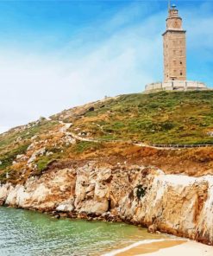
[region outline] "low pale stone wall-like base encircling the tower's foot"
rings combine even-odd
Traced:
[[[147,86],[145,86],[144,93],[158,93],[162,91],[185,92],[206,90],[209,90],[209,88],[203,82],[187,80],[170,80],[167,82],[147,84]]]

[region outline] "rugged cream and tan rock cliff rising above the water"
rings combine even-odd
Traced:
[[[137,165],[90,162],[3,184],[0,202],[79,218],[122,220],[213,245],[213,176],[165,175]]]

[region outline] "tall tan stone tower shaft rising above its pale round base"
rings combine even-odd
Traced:
[[[185,30],[175,5],[169,7],[164,39],[164,81],[186,80]]]

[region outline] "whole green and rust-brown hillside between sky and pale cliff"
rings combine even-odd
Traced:
[[[155,165],[191,176],[213,174],[212,148],[154,150],[133,144],[213,144],[211,131],[212,91],[103,99],[1,134],[0,181],[25,182],[51,166],[86,159]]]

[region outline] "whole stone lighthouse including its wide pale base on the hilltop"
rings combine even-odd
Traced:
[[[186,30],[176,5],[169,4],[163,34],[164,81],[148,84],[145,93],[208,90],[203,82],[186,80]]]

